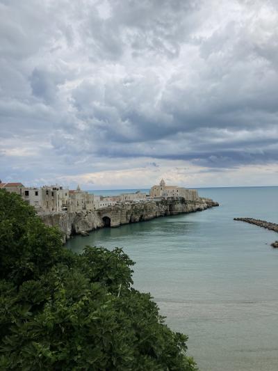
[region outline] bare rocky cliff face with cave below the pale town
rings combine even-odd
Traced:
[[[128,223],[148,221],[160,216],[206,210],[219,204],[210,198],[147,200],[140,203],[119,203],[95,211],[44,212],[38,215],[47,226],[57,226],[65,241],[72,235],[86,235],[104,227],[119,227]]]

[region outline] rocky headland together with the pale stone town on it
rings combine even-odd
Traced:
[[[56,226],[64,242],[72,235],[87,235],[104,227],[148,221],[159,216],[197,212],[218,206],[210,198],[199,197],[197,190],[167,186],[164,180],[149,194],[137,191],[118,196],[96,196],[80,187],[24,187],[22,183],[0,182],[0,189],[15,192],[35,208],[47,226]]]

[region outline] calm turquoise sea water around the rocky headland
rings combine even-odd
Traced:
[[[277,371],[278,249],[270,244],[278,235],[233,219],[278,223],[278,187],[199,194],[220,207],[97,230],[67,246],[123,247],[136,261],[134,286],[151,292],[167,324],[189,336],[201,371]]]

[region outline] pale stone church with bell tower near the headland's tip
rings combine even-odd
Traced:
[[[183,197],[186,200],[197,200],[199,198],[196,189],[167,186],[163,179],[161,179],[159,185],[154,185],[150,189],[149,196],[153,198]]]

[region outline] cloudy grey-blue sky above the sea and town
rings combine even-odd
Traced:
[[[278,183],[277,0],[0,0],[0,179]]]

